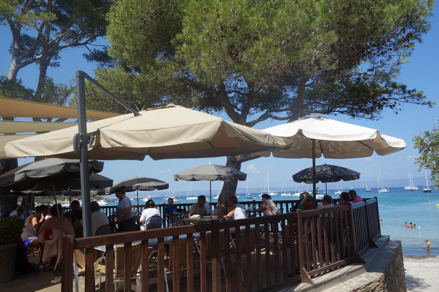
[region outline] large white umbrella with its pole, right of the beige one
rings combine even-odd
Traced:
[[[404,149],[404,140],[381,134],[377,129],[361,127],[328,119],[320,115],[308,115],[296,121],[263,129],[275,136],[294,140],[287,149],[272,151],[274,157],[312,158],[313,194],[316,190],[316,158],[358,158],[387,155]],[[256,153],[269,156],[269,152]],[[315,201],[315,200],[314,200]]]

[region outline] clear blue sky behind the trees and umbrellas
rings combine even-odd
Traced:
[[[436,7],[435,11],[438,11]],[[404,139],[407,143],[407,148],[397,153],[378,156],[374,154],[367,158],[357,159],[317,159],[319,164],[336,164],[344,167],[354,169],[358,172],[367,172],[368,184],[370,187],[377,186],[379,167],[381,167],[381,177],[385,186],[402,185],[408,183],[407,173],[413,172],[415,183],[423,185],[425,182],[423,172],[417,172],[418,167],[414,164],[414,158],[418,151],[413,148],[412,138],[425,129],[433,128],[433,125],[438,125],[439,118],[439,16],[435,15],[431,19],[432,28],[427,35],[423,37],[423,42],[417,44],[413,55],[410,56],[409,62],[404,64],[399,75],[399,82],[407,84],[409,88],[416,88],[423,91],[427,99],[438,103],[432,109],[423,106],[405,105],[399,114],[394,114],[391,110],[386,110],[382,113],[382,119],[379,121],[371,121],[364,119],[353,120],[346,116],[332,117],[339,121],[353,123],[356,125],[376,128],[380,132]],[[11,40],[11,33],[6,26],[0,26],[0,36],[3,41],[0,43],[0,75],[6,75],[10,64],[10,54],[8,53],[9,43]],[[102,40],[103,41],[103,40]],[[60,67],[50,68],[48,76],[55,79],[55,82],[67,83],[74,78],[76,70],[82,70],[90,75],[96,65],[88,63],[82,54],[86,52],[84,49],[69,49],[63,51],[61,55]],[[20,70],[19,78],[22,79],[23,84],[27,87],[35,88],[37,85],[38,71],[36,66],[27,66]],[[219,116],[226,120],[230,120],[224,113],[219,113]],[[265,121],[256,125],[255,128],[263,129],[271,126],[281,124],[279,121]],[[19,163],[31,162],[33,159],[20,159]],[[184,191],[188,189],[187,182],[174,182],[173,175],[181,170],[190,168],[200,164],[207,163],[225,164],[226,158],[210,158],[210,159],[179,159],[179,160],[162,160],[153,161],[150,158],[145,158],[144,161],[108,161],[105,163],[105,168],[102,175],[112,178],[115,182],[129,178],[135,175],[155,177],[157,179],[169,182],[171,187],[176,191]],[[248,183],[250,188],[257,188],[259,182],[262,187],[265,184],[267,174],[270,174],[270,186],[272,188],[285,187],[293,190],[296,188],[296,183],[293,182],[291,175],[299,170],[310,167],[310,159],[281,159],[281,158],[259,158],[242,164],[241,170],[248,174]],[[397,181],[399,180],[399,181]],[[245,188],[246,182],[240,182],[238,187]],[[216,183],[213,184],[216,187]],[[346,182],[343,186],[361,187],[364,185],[364,176],[356,182]],[[323,187],[323,185],[319,185]],[[335,188],[335,183],[328,184],[329,188]],[[193,189],[206,190],[207,183],[193,183]],[[303,189],[304,185],[299,186]],[[311,189],[311,186],[308,186]],[[165,192],[165,191],[162,191]]]

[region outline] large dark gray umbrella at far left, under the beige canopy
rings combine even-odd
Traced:
[[[102,171],[103,162],[90,160],[90,173]],[[47,158],[28,164],[23,164],[0,176],[0,186],[12,191],[26,191],[32,189],[43,178],[53,179],[54,182],[63,177],[80,177],[80,161],[77,159]],[[65,187],[64,189],[67,189]]]

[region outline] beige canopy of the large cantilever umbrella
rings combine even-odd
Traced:
[[[201,158],[238,155],[292,146],[294,141],[241,126],[197,110],[169,105],[87,123],[95,136],[89,159],[143,160],[151,158]],[[71,127],[11,141],[10,157],[78,158]]]

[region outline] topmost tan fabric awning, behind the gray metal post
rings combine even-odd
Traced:
[[[87,110],[87,119],[100,120],[120,115],[119,113]],[[34,101],[0,97],[0,117],[65,118],[77,119],[75,108],[50,105]]]

